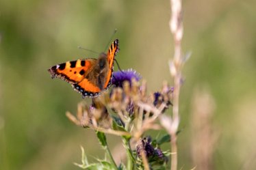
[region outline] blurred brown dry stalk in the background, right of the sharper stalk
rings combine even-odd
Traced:
[[[215,103],[209,91],[196,89],[192,100],[192,160],[196,169],[212,170],[214,144],[218,139],[212,124]]]

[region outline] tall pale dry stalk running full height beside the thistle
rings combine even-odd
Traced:
[[[181,68],[183,65],[181,40],[183,37],[183,23],[181,14],[181,0],[170,0],[170,31],[172,32],[175,51],[172,60],[171,74],[174,79],[173,91],[173,107],[172,107],[172,128],[170,129],[171,136],[171,170],[177,170],[178,167],[178,153],[177,153],[177,129],[179,126],[179,92],[181,87]]]

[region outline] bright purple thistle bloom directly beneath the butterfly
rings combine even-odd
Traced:
[[[116,87],[123,87],[124,81],[129,81],[131,85],[131,80],[135,79],[136,81],[140,81],[141,77],[136,70],[128,69],[123,71],[113,72],[113,77],[111,80],[112,85]]]

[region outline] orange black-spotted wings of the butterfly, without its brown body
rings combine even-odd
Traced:
[[[103,86],[104,90],[111,85],[114,57],[118,50],[118,40],[116,39],[107,51],[108,71]],[[67,61],[66,63],[58,64],[51,67],[48,71],[51,73],[52,78],[60,78],[71,83],[75,91],[78,91],[83,98],[86,96],[95,97],[100,94],[101,89],[97,86],[97,83],[93,83],[93,81],[97,80],[90,80],[87,78],[87,75],[94,72],[97,64],[97,59],[78,59],[77,61]]]

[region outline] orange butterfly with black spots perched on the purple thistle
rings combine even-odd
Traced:
[[[110,45],[107,54],[101,53],[98,59],[77,59],[52,66],[48,69],[51,78],[62,79],[72,85],[82,98],[94,98],[111,85],[114,57],[118,53],[119,40]]]

